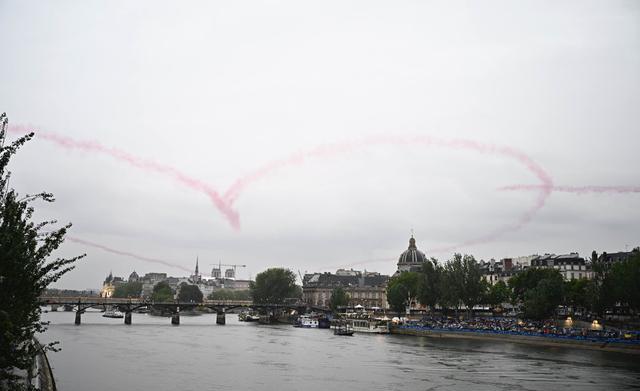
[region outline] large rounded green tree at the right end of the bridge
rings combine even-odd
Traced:
[[[298,298],[300,288],[296,275],[289,269],[271,268],[258,273],[249,283],[251,297],[256,304],[283,304],[285,299]]]

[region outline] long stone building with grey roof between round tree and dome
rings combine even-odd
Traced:
[[[333,289],[341,287],[349,295],[349,306],[388,308],[387,282],[389,276],[357,270],[338,270],[332,273],[305,274],[302,294],[305,303],[328,307]]]

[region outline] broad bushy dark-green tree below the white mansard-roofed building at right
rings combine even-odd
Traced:
[[[527,269],[511,277],[509,286],[527,318],[549,317],[562,302],[564,281],[556,269]]]

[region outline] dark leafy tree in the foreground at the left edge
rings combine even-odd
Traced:
[[[34,222],[35,201],[53,202],[40,193],[20,197],[10,189],[7,170],[11,157],[33,133],[5,145],[8,120],[0,115],[0,388],[20,389],[15,369],[29,371],[37,347],[34,336],[46,330],[40,322],[38,297],[46,287],[74,268],[84,255],[49,260],[64,242],[71,224],[56,228],[56,221]],[[45,346],[55,350],[55,343]]]

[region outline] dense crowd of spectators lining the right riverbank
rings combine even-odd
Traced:
[[[491,332],[500,334],[640,342],[640,333],[637,332],[618,329],[602,329],[601,327],[576,328],[566,324],[568,322],[564,323],[564,325],[559,326],[558,323],[552,320],[522,321],[516,318],[506,317],[476,317],[471,319],[459,319],[444,316],[425,316],[420,320],[406,321],[401,327],[427,330]]]

